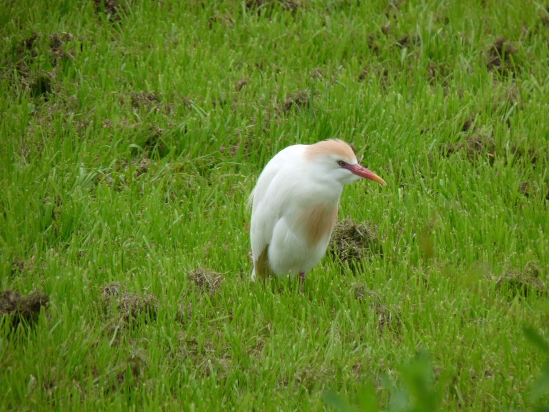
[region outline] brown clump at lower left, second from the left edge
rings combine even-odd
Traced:
[[[156,317],[156,309],[158,303],[154,295],[136,295],[128,293],[124,290],[120,282],[115,282],[104,286],[101,290],[102,304],[105,310],[109,311],[112,307],[112,302],[115,301],[117,308],[117,320],[134,321],[139,317],[139,314],[144,313],[150,319]]]

